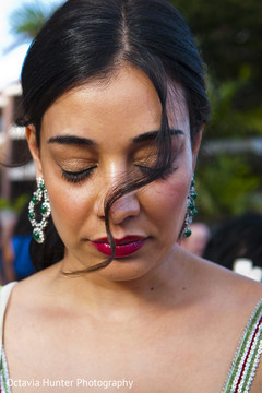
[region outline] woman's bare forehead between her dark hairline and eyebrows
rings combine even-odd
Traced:
[[[159,129],[162,110],[150,79],[127,66],[106,80],[88,82],[62,95],[45,112],[43,130],[47,138],[69,132],[105,138],[109,131],[111,136],[134,138]],[[167,112],[170,127],[189,129],[187,106],[178,86],[168,88]]]

